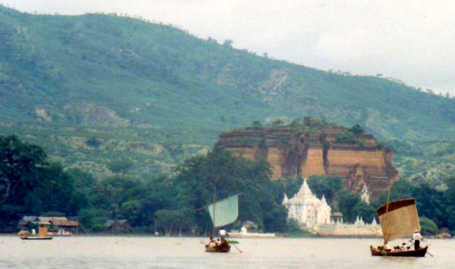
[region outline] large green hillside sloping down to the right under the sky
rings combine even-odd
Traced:
[[[406,143],[438,144],[455,133],[454,99],[259,57],[139,19],[0,6],[0,40],[0,132],[98,174],[125,158],[131,173],[168,171],[219,133],[274,117],[358,123],[413,160],[422,158],[407,154]],[[430,162],[453,168],[450,147]]]

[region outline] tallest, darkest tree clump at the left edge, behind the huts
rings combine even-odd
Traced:
[[[0,136],[0,229],[12,231],[24,215],[58,211],[75,215],[86,205],[74,178],[47,161],[42,148],[17,136]]]

